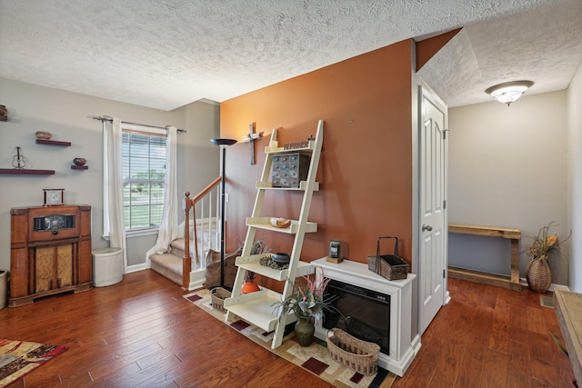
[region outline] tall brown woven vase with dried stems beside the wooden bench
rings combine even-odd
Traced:
[[[547,260],[550,254],[559,246],[557,234],[549,233],[550,228],[553,226],[557,226],[556,221],[545,224],[539,229],[533,243],[527,249],[527,254],[529,255],[529,264],[527,264],[526,271],[527,285],[537,293],[547,292],[550,284],[552,284],[552,271]],[[569,237],[570,235],[568,234],[562,240],[562,243],[566,242]]]

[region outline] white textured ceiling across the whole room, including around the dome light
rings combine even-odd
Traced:
[[[449,106],[582,62],[581,0],[0,0],[0,77],[171,110],[461,26],[419,72]]]

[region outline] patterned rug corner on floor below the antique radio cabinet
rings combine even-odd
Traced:
[[[15,382],[66,349],[66,346],[0,339],[0,387]]]

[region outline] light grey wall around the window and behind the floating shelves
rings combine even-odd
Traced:
[[[219,134],[219,107],[193,103],[171,112],[0,78],[0,104],[8,122],[0,122],[0,168],[11,168],[16,146],[26,168],[55,170],[54,175],[0,174],[0,268],[10,268],[10,209],[43,204],[43,189],[64,188],[65,204],[92,206],[93,249],[108,246],[103,232],[102,125],[87,115],[111,115],[127,122],[186,129],[178,136],[178,193],[196,194],[219,174],[219,150],[209,142]],[[35,132],[71,146],[35,144]],[[88,170],[71,170],[73,158],[87,159]],[[180,206],[181,209],[181,206]],[[182,212],[180,219],[184,219]],[[130,265],[145,263],[156,235],[128,239]]]

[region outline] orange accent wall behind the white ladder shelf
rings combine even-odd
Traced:
[[[278,128],[281,146],[306,140],[317,120],[325,121],[320,191],[309,215],[318,232],[306,234],[302,260],[326,256],[334,239],[348,244],[350,260],[366,263],[377,237],[389,234],[401,239],[400,254],[412,263],[413,48],[412,40],[402,41],[221,104],[221,136],[238,141],[252,122],[257,132]],[[266,135],[256,142],[255,165],[247,143],[226,151],[231,250],[245,240],[268,141]],[[301,199],[302,193],[269,191],[262,215],[296,219]],[[258,231],[256,238],[274,252],[290,252],[293,244],[286,234]]]

